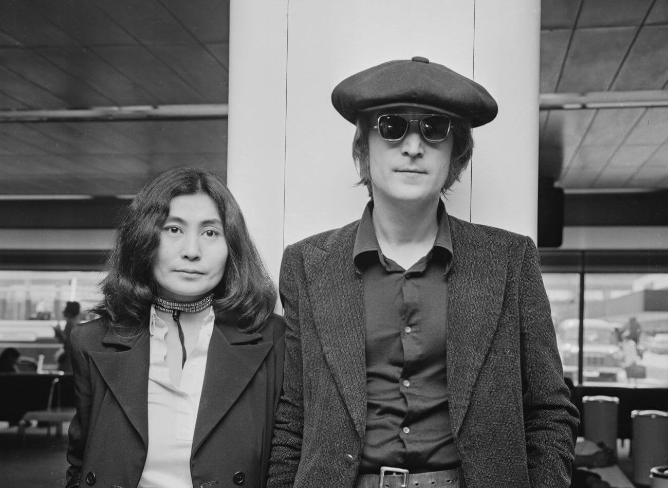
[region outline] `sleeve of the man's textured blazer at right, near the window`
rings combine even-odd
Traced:
[[[524,431],[530,485],[570,486],[578,410],[570,402],[556,347],[538,250],[526,237],[519,284]]]

